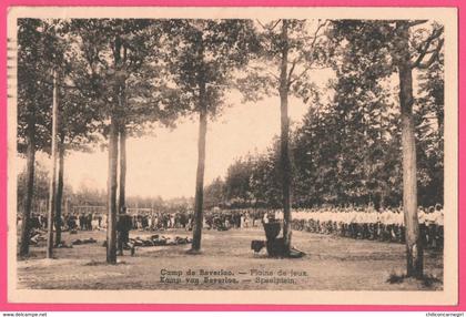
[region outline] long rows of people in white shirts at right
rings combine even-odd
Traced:
[[[428,208],[419,207],[418,222],[424,246],[443,248],[443,207],[438,204]],[[379,211],[373,207],[296,209],[293,212],[293,228],[355,239],[405,242],[404,214],[401,207]]]

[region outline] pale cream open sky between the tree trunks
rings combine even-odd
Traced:
[[[207,123],[204,184],[225,176],[240,156],[263,153],[280,134],[280,99],[271,96],[259,102],[241,103],[240,95],[230,93],[230,108]],[[300,122],[310,105],[290,98],[288,114]],[[173,198],[194,196],[197,166],[199,120],[182,119],[175,129],[156,127],[154,136],[130,137],[126,141],[129,196]],[[23,160],[22,160],[23,161]],[[38,161],[50,166],[41,153]],[[22,162],[20,170],[23,168]],[[71,152],[65,157],[64,178],[74,191],[87,187],[107,190],[108,152]]]

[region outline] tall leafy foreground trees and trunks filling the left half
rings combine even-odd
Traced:
[[[65,150],[77,139],[75,144],[84,146],[99,136],[108,140],[108,262],[115,263],[116,212],[125,204],[126,136],[148,132],[154,123],[171,125],[186,113],[200,115],[195,213],[201,221],[193,243],[199,249],[207,115],[222,105],[232,70],[246,62],[243,52],[254,44],[251,31],[252,21],[245,20],[21,19],[18,150],[27,156],[28,182],[20,254],[28,254],[36,151],[52,157],[60,152],[58,173],[52,160],[50,187],[49,217],[57,221]],[[79,137],[69,136],[68,130],[79,130]],[[59,239],[57,233],[55,244]]]

